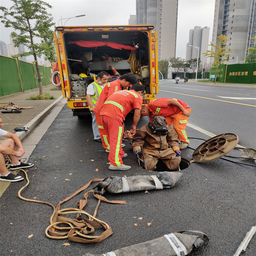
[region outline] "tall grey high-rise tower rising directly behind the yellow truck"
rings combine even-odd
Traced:
[[[136,0],[137,25],[158,31],[158,60],[175,57],[178,0]]]

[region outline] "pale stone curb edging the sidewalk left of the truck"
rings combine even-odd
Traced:
[[[28,127],[30,131],[17,131],[15,134],[19,137],[20,140],[23,140],[33,129],[39,124],[44,117],[63,99],[63,96],[60,96],[55,100],[51,105],[49,105],[44,111],[34,117],[30,122],[28,122],[24,127]]]

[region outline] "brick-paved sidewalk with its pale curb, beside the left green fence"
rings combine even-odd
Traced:
[[[20,107],[32,106],[33,109],[22,109],[22,113],[17,114],[3,114],[0,116],[3,120],[3,130],[16,133],[16,135],[22,140],[29,132],[16,132],[14,128],[29,126],[30,131],[37,125],[51,109],[58,104],[62,98],[62,91],[49,91],[54,85],[43,86],[43,92],[49,92],[49,94],[55,97],[54,100],[26,100],[32,95],[39,94],[39,88],[30,91],[25,91],[24,93],[17,93],[13,95],[3,96],[0,98],[0,106],[12,102]],[[0,110],[0,112],[3,110]],[[44,112],[41,116],[40,113]],[[37,117],[35,120],[33,120]],[[31,120],[33,120],[32,123]],[[0,141],[6,139],[1,137]]]

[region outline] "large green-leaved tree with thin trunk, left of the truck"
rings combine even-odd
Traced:
[[[47,8],[52,8],[51,5],[42,0],[11,0],[14,5],[7,9],[3,6],[0,10],[3,11],[3,15],[0,16],[1,22],[4,23],[6,28],[14,28],[17,32],[12,32],[13,42],[15,46],[24,44],[29,49],[28,52],[19,54],[19,56],[33,55],[35,66],[37,68],[38,82],[39,82],[39,94],[43,95],[42,81],[40,70],[38,66],[38,57],[42,54],[53,60],[54,48],[53,48],[53,34],[50,27],[55,23],[52,22],[52,14],[48,13]],[[41,43],[35,43],[41,39]]]

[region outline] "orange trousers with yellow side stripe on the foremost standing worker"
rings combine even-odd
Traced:
[[[122,137],[124,134],[124,122],[109,116],[100,116],[102,126],[110,139],[109,161],[114,166],[123,164]]]

